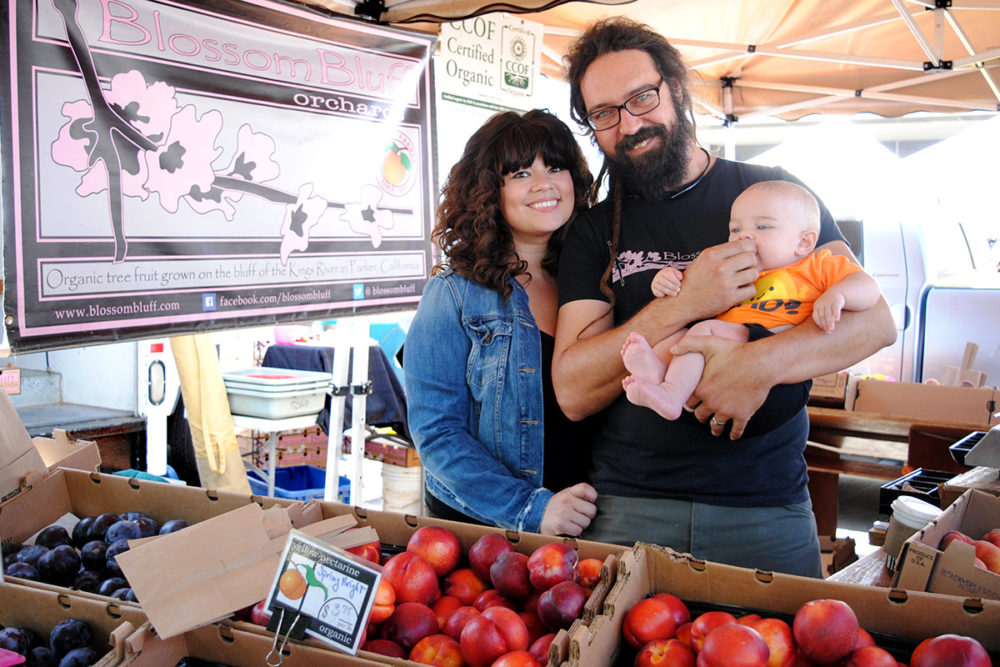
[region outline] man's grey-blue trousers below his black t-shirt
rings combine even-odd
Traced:
[[[822,577],[812,503],[724,507],[668,498],[601,495],[583,539],[658,544],[695,558]]]

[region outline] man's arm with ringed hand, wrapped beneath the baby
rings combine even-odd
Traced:
[[[853,257],[842,241],[823,247]],[[895,340],[896,327],[889,306],[880,297],[868,310],[843,313],[833,333],[823,332],[808,319],[751,343],[688,336],[671,352],[700,352],[705,356],[701,382],[688,406],[695,408],[695,416],[701,421],[712,416],[720,422],[732,419],[730,437],[736,439],[774,385],[843,370]]]

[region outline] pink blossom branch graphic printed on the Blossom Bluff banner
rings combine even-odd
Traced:
[[[115,74],[105,89],[76,20],[77,0],[53,0],[53,4],[62,14],[89,101],[63,105],[67,122],[52,142],[52,159],[82,173],[75,189],[81,197],[107,193],[113,261],[124,261],[128,253],[124,197],[146,200],[156,193],[160,206],[170,213],[178,212],[183,199],[196,213],[219,211],[229,221],[236,217],[235,203],[246,194],[281,205],[282,263],[292,252],[309,247],[311,230],[328,208],[346,208],[343,219],[375,247],[382,243],[382,229],[393,226],[395,213],[412,214],[379,208],[381,194],[374,186],[365,186],[360,203],[339,204],[313,195],[312,183],[300,186],[297,195],[265,185],[281,172],[273,159],[275,142],[247,124],[239,128],[228,164],[216,169],[214,163],[225,153],[217,145],[222,112],[212,109],[199,115],[193,105],[181,107],[173,86],[148,82],[137,70]]]

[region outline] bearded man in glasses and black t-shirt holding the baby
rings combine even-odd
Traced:
[[[595,24],[568,61],[571,111],[610,176],[608,198],[574,223],[559,262],[556,395],[571,419],[601,414],[591,470],[598,515],[583,537],[822,576],[804,459],[808,415],[790,385],[890,344],[888,307],[880,300],[846,313],[830,334],[809,321],[747,343],[689,337],[673,352],[705,356],[693,412],[671,422],[629,403],[621,384],[628,334],[655,345],[754,296],[753,243],[727,242],[731,205],[755,182],[795,179],[697,145],[684,64],[647,26]],[[825,208],[822,222],[818,246],[851,256]],[[665,266],[683,270],[680,293],[653,298],[652,278]],[[758,410],[792,412],[761,420],[782,425],[758,433]]]

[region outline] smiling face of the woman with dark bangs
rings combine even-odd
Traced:
[[[547,241],[573,215],[573,176],[569,169],[549,167],[540,155],[531,166],[504,174],[500,211],[515,243]]]

